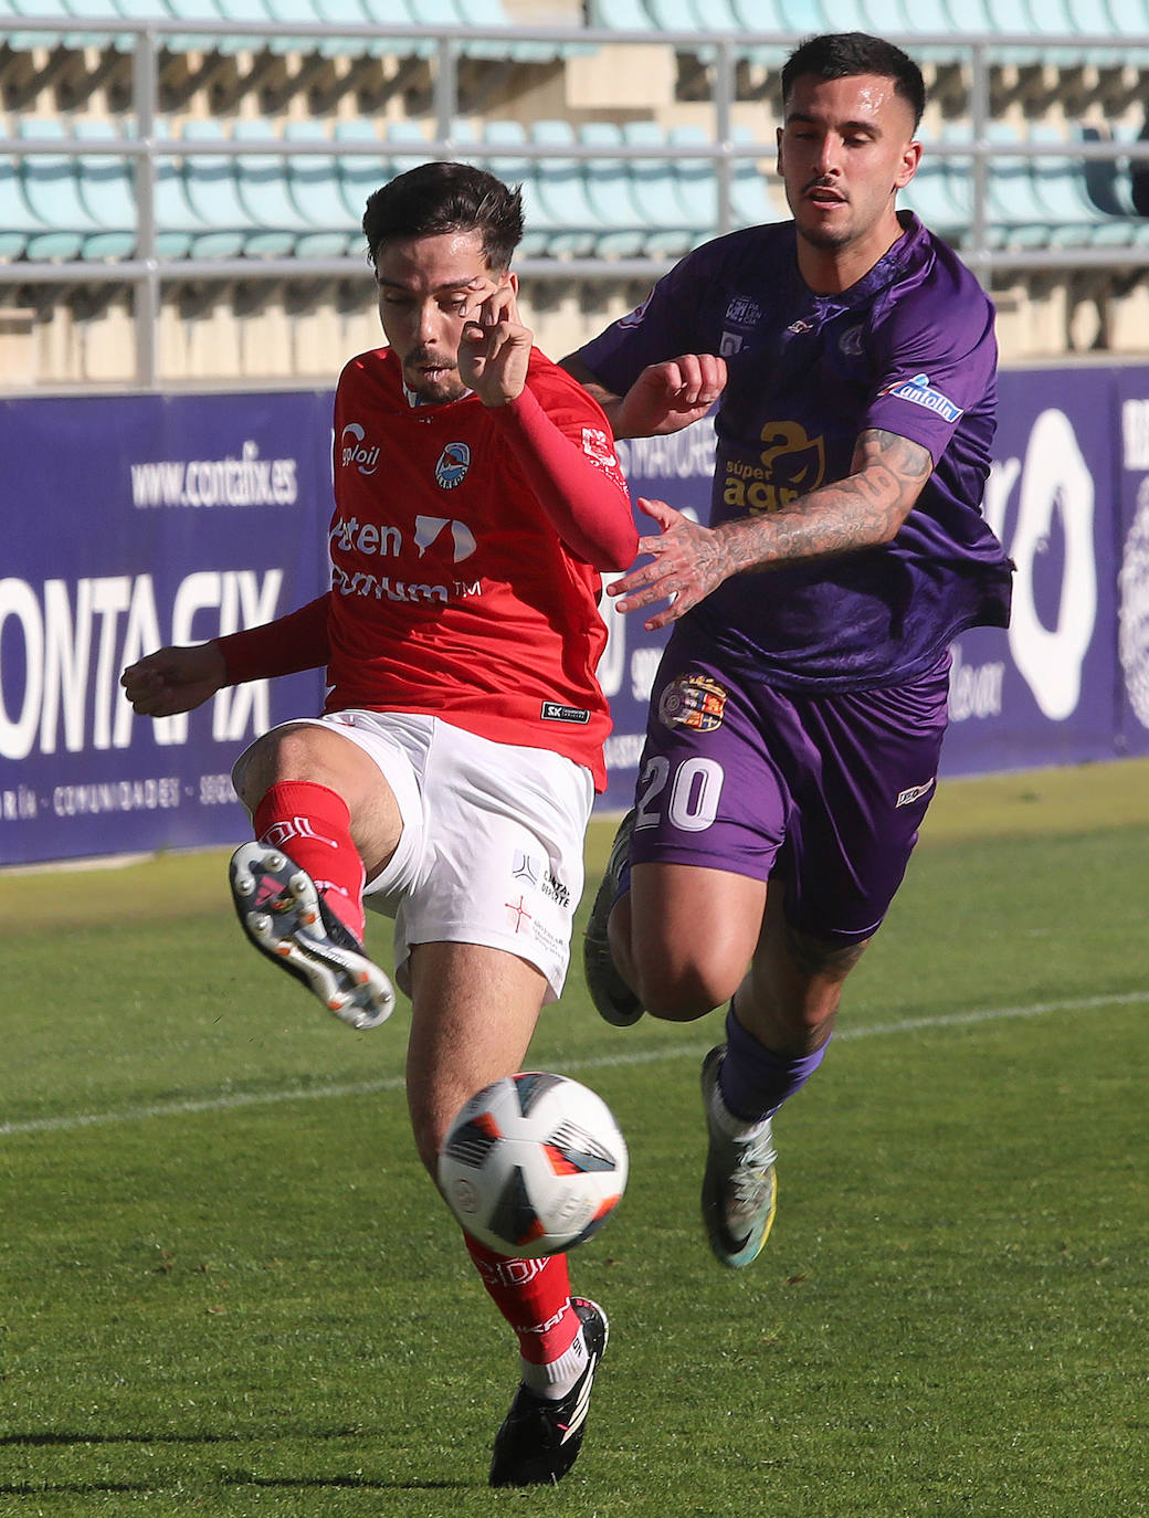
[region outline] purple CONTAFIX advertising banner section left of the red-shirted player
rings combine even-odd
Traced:
[[[0,864],[243,838],[229,771],[322,676],[134,716],[120,671],[317,595],[331,398],[0,405]]]

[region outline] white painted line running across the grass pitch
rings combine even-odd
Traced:
[[[1050,1013],[1093,1013],[1105,1006],[1132,1006],[1149,1000],[1146,991],[1122,991],[1113,996],[1081,996],[1062,1002],[1034,1002],[1029,1006],[990,1006],[971,1013],[944,1013],[938,1017],[906,1017],[897,1023],[870,1023],[862,1028],[842,1028],[835,1032],[835,1043],[847,1038],[877,1038],[889,1034],[909,1034],[935,1028],[967,1028],[973,1023],[999,1023],[1014,1017],[1046,1017]],[[589,1060],[566,1060],[563,1067],[571,1073],[580,1070],[613,1070],[624,1066],[659,1064],[663,1060],[682,1060],[706,1052],[706,1043],[665,1044],[656,1049],[636,1049],[631,1053],[604,1053]],[[118,1113],[77,1113],[71,1117],[29,1117],[23,1122],[0,1123],[0,1138],[15,1134],[59,1132],[71,1128],[96,1128],[106,1123],[137,1123],[152,1117],[179,1117],[187,1113],[226,1113],[244,1107],[270,1107],[278,1102],[316,1102],[342,1096],[376,1096],[382,1091],[401,1091],[404,1078],[389,1076],[384,1081],[357,1081],[345,1085],[290,1087],[278,1091],[234,1091],[229,1096],[205,1096],[199,1101],[156,1102],[152,1107],[124,1107]]]

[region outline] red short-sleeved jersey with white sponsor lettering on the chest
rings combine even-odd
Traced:
[[[612,522],[607,533],[618,568],[637,534],[597,402],[537,349],[527,392],[522,405],[495,410],[471,395],[413,405],[389,348],[345,367],[325,710],[433,713],[496,742],[566,754],[603,789],[601,580],[560,537],[537,460],[524,461],[524,413],[562,434],[552,437],[557,472],[572,498],[595,498],[600,522],[618,512],[622,530]]]

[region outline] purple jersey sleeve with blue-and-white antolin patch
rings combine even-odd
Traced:
[[[993,304],[967,278],[891,305],[876,334],[876,390],[861,424],[920,443],[935,468],[962,417],[984,410],[996,390]]]

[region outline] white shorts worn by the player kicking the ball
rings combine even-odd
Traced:
[[[287,723],[331,727],[375,761],[402,815],[387,868],[364,905],[395,918],[395,978],[410,994],[411,944],[505,949],[559,997],[583,894],[593,780],[551,753],[478,738],[440,716],[331,712]],[[238,777],[247,754],[235,762]]]

